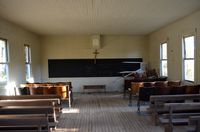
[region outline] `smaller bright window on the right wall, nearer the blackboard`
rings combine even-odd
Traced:
[[[160,45],[160,75],[167,76],[167,43]]]

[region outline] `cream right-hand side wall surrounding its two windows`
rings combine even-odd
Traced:
[[[197,29],[197,33],[195,33]],[[168,39],[169,79],[182,79],[182,37],[197,34],[196,83],[200,83],[200,11],[176,21],[149,36],[149,64],[159,70],[160,43]]]

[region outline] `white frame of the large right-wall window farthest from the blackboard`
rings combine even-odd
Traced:
[[[194,58],[186,58],[185,38],[188,38],[188,37],[194,37]],[[195,82],[195,58],[196,58],[195,57],[195,54],[196,54],[196,52],[195,52],[195,49],[196,49],[196,37],[195,37],[195,35],[194,34],[190,34],[190,35],[183,36],[182,37],[182,46],[183,46],[182,47],[182,58],[183,58],[183,60],[182,60],[182,67],[183,67],[182,68],[183,69],[182,78],[183,78],[184,81],[194,83]],[[194,61],[194,80],[193,81],[185,79],[185,60],[193,60]]]

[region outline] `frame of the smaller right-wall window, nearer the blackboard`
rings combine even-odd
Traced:
[[[166,54],[167,55],[166,59],[164,59],[163,58],[163,44],[166,44],[167,47],[168,47],[167,41],[160,43],[160,76],[164,76],[164,75],[162,75],[162,73],[163,73],[162,62],[166,61],[167,62],[167,75],[166,75],[166,77],[168,77],[168,54]],[[166,52],[167,52],[167,49],[166,49]]]

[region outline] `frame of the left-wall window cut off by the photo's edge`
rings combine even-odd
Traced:
[[[9,80],[9,51],[8,51],[8,40],[7,39],[4,39],[4,38],[0,38],[1,41],[4,41],[5,42],[5,62],[1,62],[0,61],[0,64],[1,65],[5,65],[6,66],[6,80],[5,81],[0,81],[0,84],[6,84]]]

